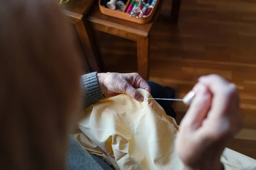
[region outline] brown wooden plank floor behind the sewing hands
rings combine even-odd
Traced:
[[[256,0],[183,0],[177,25],[166,4],[151,31],[150,80],[182,98],[204,74],[235,82],[244,129],[229,148],[256,159]],[[136,71],[135,42],[98,34],[106,71]],[[177,122],[186,106],[175,102]]]

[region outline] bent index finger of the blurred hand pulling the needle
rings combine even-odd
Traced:
[[[236,85],[233,83],[229,83],[223,77],[215,74],[200,77],[199,82],[204,83],[213,95],[210,111],[214,114],[213,116],[232,113],[227,111],[227,108],[239,108],[239,96]],[[233,107],[229,107],[230,105]]]

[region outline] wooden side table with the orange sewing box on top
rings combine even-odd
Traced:
[[[161,0],[157,6],[157,10],[155,11],[151,22],[146,24],[138,24],[106,16],[99,11],[97,1],[93,4],[87,16],[89,26],[93,30],[102,31],[137,42],[137,68],[138,73],[144,79],[148,79],[149,32],[153,26],[153,23],[157,19],[158,13],[161,9],[162,1],[163,0]]]

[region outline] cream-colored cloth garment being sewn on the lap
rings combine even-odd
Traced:
[[[137,102],[125,94],[105,98],[83,112],[79,129],[76,139],[116,170],[183,170],[175,152],[178,126],[154,100]],[[256,170],[255,159],[230,149],[221,161],[225,170]]]

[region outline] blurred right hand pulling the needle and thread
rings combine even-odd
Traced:
[[[242,127],[236,85],[209,75],[193,91],[177,136],[178,156],[186,170],[221,170],[221,153]]]

